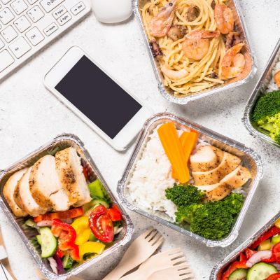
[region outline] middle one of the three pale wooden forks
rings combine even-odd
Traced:
[[[146,262],[143,262],[136,272],[122,277],[121,280],[146,280],[154,272],[173,267],[174,265],[179,265],[182,262],[185,262],[185,260],[186,258],[180,248],[158,253],[146,260]]]

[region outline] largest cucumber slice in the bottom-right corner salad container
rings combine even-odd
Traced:
[[[247,280],[263,280],[268,276],[278,272],[274,265],[265,262],[258,262],[248,269]]]

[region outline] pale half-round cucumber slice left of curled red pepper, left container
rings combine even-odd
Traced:
[[[50,228],[40,228],[42,258],[50,258],[57,251],[57,239],[52,235]]]

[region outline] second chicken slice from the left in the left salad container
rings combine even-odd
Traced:
[[[18,181],[18,185],[15,188],[14,199],[20,208],[25,209],[30,216],[36,217],[45,214],[45,212],[50,209],[48,207],[40,207],[31,195],[29,188],[29,176],[31,170],[32,167],[29,167],[20,181]]]

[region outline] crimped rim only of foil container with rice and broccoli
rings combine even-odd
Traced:
[[[199,235],[195,235],[193,232],[184,230],[183,228],[179,228],[178,226],[175,226],[173,223],[169,223],[168,221],[165,221],[163,218],[160,218],[158,216],[155,216],[154,214],[150,214],[142,209],[139,209],[138,207],[130,204],[130,202],[125,197],[125,194],[124,194],[125,182],[127,181],[128,175],[132,171],[132,167],[134,165],[134,160],[135,160],[135,158],[137,158],[137,155],[138,155],[140,148],[143,144],[143,141],[146,137],[145,132],[147,131],[149,125],[152,125],[157,120],[166,119],[166,118],[175,120],[178,123],[181,122],[182,125],[187,125],[188,127],[194,128],[195,130],[197,130],[199,132],[201,132],[201,130],[203,130],[204,132],[201,132],[202,134],[207,134],[207,136],[210,136],[213,139],[217,139],[218,141],[221,141],[224,144],[227,144],[229,146],[232,146],[233,148],[237,148],[240,151],[243,151],[244,153],[249,154],[255,162],[257,174],[255,176],[255,180],[252,182],[251,190],[248,192],[248,195],[246,197],[246,202],[244,203],[244,206],[241,209],[241,212],[237,218],[237,221],[235,222],[234,227],[232,228],[230,234],[227,237],[225,237],[224,239],[215,241],[215,240],[211,240],[211,239],[206,239],[204,237],[200,237]],[[199,129],[199,127],[201,130]],[[205,132],[207,132],[207,133],[205,133]],[[232,145],[229,144],[230,142],[232,143]],[[181,233],[183,233],[183,235],[193,237],[193,238],[197,239],[198,241],[201,241],[202,243],[206,244],[209,247],[216,247],[216,246],[226,247],[226,246],[229,246],[230,244],[232,244],[232,242],[235,241],[235,239],[237,238],[239,229],[241,227],[241,223],[244,219],[246,211],[248,210],[248,206],[251,204],[251,200],[253,198],[256,188],[258,187],[258,183],[262,179],[262,176],[263,176],[262,162],[261,162],[261,159],[260,159],[260,156],[258,155],[258,153],[253,151],[253,149],[244,146],[244,144],[241,144],[238,141],[235,141],[234,139],[230,139],[228,137],[224,137],[222,134],[213,132],[212,130],[207,129],[207,127],[198,125],[197,123],[193,123],[192,121],[190,121],[186,118],[178,117],[178,116],[174,115],[173,113],[163,112],[163,113],[157,113],[154,116],[152,116],[151,118],[148,118],[148,120],[146,120],[146,123],[144,124],[141,132],[139,133],[139,137],[137,139],[137,144],[134,148],[134,151],[132,152],[129,162],[127,163],[125,172],[123,173],[123,177],[118,182],[117,193],[118,193],[118,196],[119,196],[121,202],[123,204],[125,204],[125,206],[128,209],[130,209],[134,212],[137,212],[138,214],[141,214],[142,216],[145,216],[146,218],[151,218],[154,221],[158,221],[158,223],[162,223],[163,225],[166,225],[167,227],[172,228],[173,230],[176,230],[177,232],[181,232]]]

